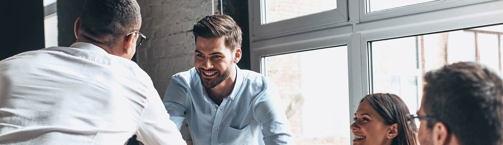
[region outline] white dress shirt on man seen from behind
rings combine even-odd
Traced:
[[[0,61],[0,144],[186,144],[150,77],[91,43]]]

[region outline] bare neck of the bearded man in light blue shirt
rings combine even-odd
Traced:
[[[223,99],[232,93],[234,89],[234,84],[236,84],[236,68],[233,65],[230,71],[229,77],[223,80],[222,83],[218,84],[214,88],[206,89],[208,95],[214,97],[215,99]]]

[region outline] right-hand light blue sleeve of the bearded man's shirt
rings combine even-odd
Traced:
[[[267,87],[255,101],[255,117],[262,124],[265,144],[293,144],[292,131],[276,87]]]

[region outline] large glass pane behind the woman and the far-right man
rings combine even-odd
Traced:
[[[372,89],[400,96],[416,112],[422,76],[445,64],[478,61],[501,73],[503,25],[370,42]]]

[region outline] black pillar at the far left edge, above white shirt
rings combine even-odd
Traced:
[[[40,0],[2,2],[0,60],[45,47],[44,4]]]

